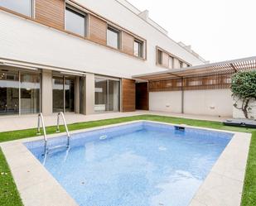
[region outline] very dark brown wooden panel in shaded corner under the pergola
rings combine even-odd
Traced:
[[[147,82],[136,84],[136,109],[149,109]]]

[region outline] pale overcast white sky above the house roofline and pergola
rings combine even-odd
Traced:
[[[256,0],[128,0],[165,28],[217,62],[256,55]]]

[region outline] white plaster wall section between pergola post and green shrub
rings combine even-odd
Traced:
[[[184,113],[232,117],[230,89],[191,90],[184,92]]]

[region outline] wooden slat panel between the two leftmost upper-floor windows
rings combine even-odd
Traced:
[[[65,27],[65,1],[36,0],[35,18],[37,22],[63,30]]]

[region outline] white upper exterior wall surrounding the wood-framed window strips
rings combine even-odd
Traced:
[[[147,60],[138,60],[3,11],[0,11],[0,58],[131,78],[135,74],[164,70],[156,65],[156,46],[160,46],[191,65],[203,64],[195,55],[191,55],[118,1],[77,2],[146,39]]]

